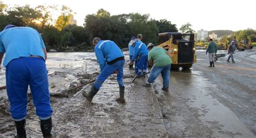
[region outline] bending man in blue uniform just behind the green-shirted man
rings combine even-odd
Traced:
[[[145,74],[147,72],[147,46],[142,41],[134,41],[134,53],[130,64],[133,64],[134,60],[138,59],[138,62],[135,64],[135,72],[138,76]]]

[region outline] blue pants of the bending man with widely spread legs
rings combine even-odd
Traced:
[[[124,76],[124,72],[123,72],[123,68],[124,68],[124,60],[119,60],[113,64],[106,64],[106,66],[104,67],[104,69],[102,70],[102,72],[100,72],[99,76],[97,77],[94,85],[96,87],[96,89],[100,89],[100,87],[102,86],[102,84],[105,82],[105,80],[107,79],[107,77],[109,77],[111,74],[113,74],[114,71],[118,71],[117,74],[117,82],[119,84],[119,86],[124,86],[123,84],[123,76]]]

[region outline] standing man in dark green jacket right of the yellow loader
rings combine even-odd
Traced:
[[[207,46],[207,49],[206,49],[206,55],[207,53],[209,53],[209,61],[210,61],[210,66],[209,67],[214,67],[214,57],[217,53],[217,45],[216,43],[212,40],[212,39],[209,39],[209,44]]]

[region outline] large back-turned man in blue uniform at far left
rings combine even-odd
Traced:
[[[4,53],[6,91],[17,136],[26,137],[25,122],[29,85],[36,114],[41,121],[43,136],[52,137],[55,133],[51,130],[52,107],[45,66],[47,55],[41,35],[31,27],[7,25],[0,33],[0,65]]]

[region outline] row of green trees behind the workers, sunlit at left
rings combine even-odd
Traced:
[[[1,1],[0,1],[1,2]],[[53,14],[59,13],[57,20]],[[129,13],[113,15],[104,9],[96,14],[87,14],[84,26],[70,25],[70,18],[75,14],[68,6],[30,5],[9,8],[0,3],[0,30],[8,24],[36,28],[42,34],[47,49],[58,51],[76,51],[92,49],[93,37],[108,39],[117,43],[120,48],[127,47],[132,36],[143,34],[145,43],[157,43],[157,34],[178,32],[176,24],[166,19],[155,20],[149,14]]]

